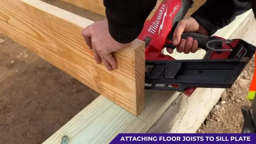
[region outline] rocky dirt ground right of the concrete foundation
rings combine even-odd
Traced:
[[[223,92],[219,102],[198,129],[198,133],[241,133],[243,127],[241,106],[252,104],[246,96],[254,73],[254,61],[255,55],[233,86]]]

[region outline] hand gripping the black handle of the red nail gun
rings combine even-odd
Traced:
[[[181,35],[184,32],[197,32],[208,35],[207,30],[204,29],[193,17],[180,20],[173,34],[173,45],[176,46],[178,53],[195,53],[198,50],[198,43],[196,40],[193,40],[192,37],[181,39]],[[167,48],[166,50],[170,54],[173,53],[171,48]]]

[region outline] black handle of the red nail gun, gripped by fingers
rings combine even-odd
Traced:
[[[183,33],[181,35],[181,39],[187,39],[188,37],[192,37],[193,40],[197,40],[199,48],[207,50],[207,48],[205,47],[205,44],[209,38],[208,36],[200,34],[200,33],[196,33],[196,32],[188,32],[188,33]],[[173,33],[170,33],[167,38],[169,40],[173,41]],[[167,43],[165,45],[165,47],[172,48],[172,49],[176,48],[172,43]]]

